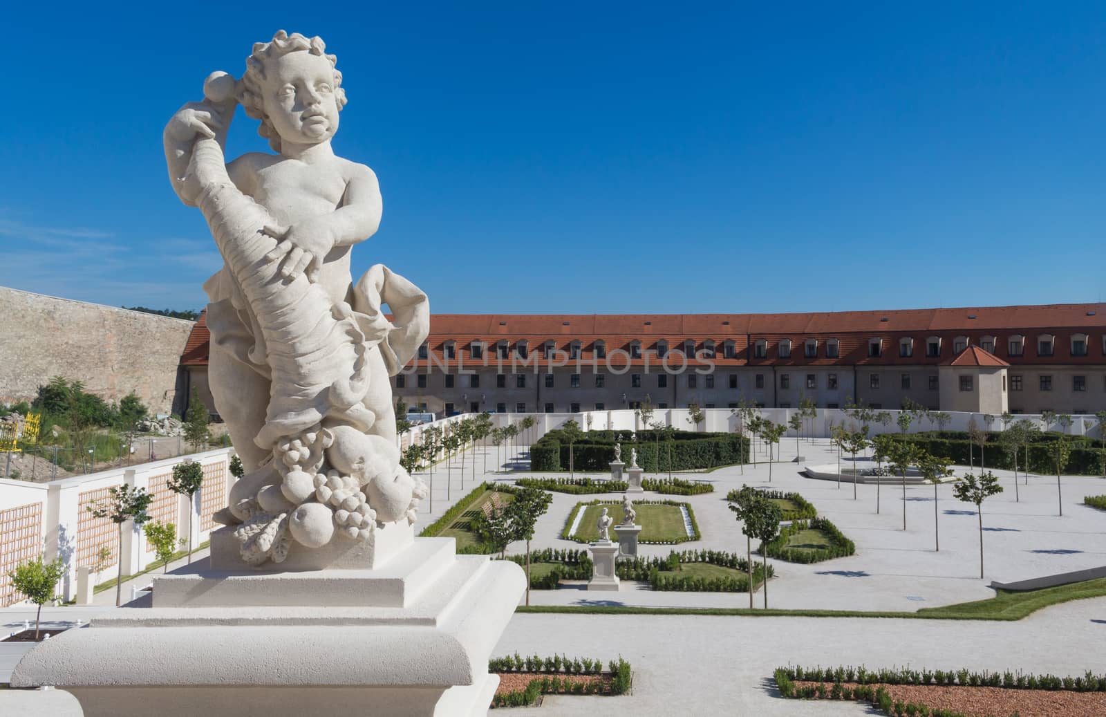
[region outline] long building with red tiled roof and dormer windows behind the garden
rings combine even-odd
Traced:
[[[393,377],[438,415],[635,407],[1106,408],[1104,304],[789,314],[436,314]],[[207,392],[207,326],[181,366]]]

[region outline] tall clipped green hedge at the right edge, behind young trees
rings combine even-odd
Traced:
[[[979,444],[968,440],[967,434],[956,432],[945,433],[920,433],[902,436],[901,434],[886,434],[894,440],[909,440],[928,453],[947,458],[958,466],[979,466],[980,450]],[[983,463],[987,468],[1001,468],[1013,470],[1014,459],[1001,443],[1000,434],[989,434],[991,438],[984,444]],[[1103,451],[1095,446],[1095,441],[1083,436],[1063,436],[1062,434],[1043,433],[1034,437],[1034,443],[1029,446],[1030,470],[1035,474],[1056,475],[1056,461],[1048,450],[1050,444],[1056,440],[1067,440],[1072,444],[1072,456],[1064,467],[1064,475],[1077,476],[1100,476],[1103,474],[1103,460],[1106,460]],[[969,455],[969,450],[971,455]],[[1025,469],[1025,447],[1018,450],[1018,468]]]

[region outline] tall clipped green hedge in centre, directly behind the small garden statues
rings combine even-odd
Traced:
[[[623,454],[637,448],[637,463],[648,471],[698,470],[714,466],[728,466],[749,460],[749,439],[726,433],[676,432],[671,441],[661,438],[659,444],[660,466],[657,466],[658,445],[651,430],[637,433],[637,443],[623,443]],[[568,444],[563,432],[551,430],[530,449],[532,470],[568,470]],[[615,434],[609,430],[593,430],[573,447],[575,470],[606,471],[615,459]],[[669,448],[671,466],[668,465]]]

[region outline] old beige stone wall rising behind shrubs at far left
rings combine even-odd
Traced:
[[[134,391],[167,414],[192,322],[0,287],[0,403],[30,401],[54,376],[118,401]]]

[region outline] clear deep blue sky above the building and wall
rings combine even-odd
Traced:
[[[200,308],[161,128],[286,29],[338,55],[335,149],[380,179],[355,276],[437,312],[1106,294],[1106,4],[13,4],[0,284]]]

